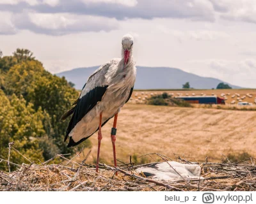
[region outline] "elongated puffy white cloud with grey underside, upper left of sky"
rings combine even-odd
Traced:
[[[119,26],[115,18],[70,13],[35,13],[33,11],[12,14],[9,16],[8,22],[15,31],[29,30],[34,33],[50,35],[111,31],[118,29]]]

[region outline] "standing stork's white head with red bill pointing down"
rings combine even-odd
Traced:
[[[132,53],[133,37],[131,34],[125,34],[122,39],[122,57],[124,57],[124,64],[127,64]]]

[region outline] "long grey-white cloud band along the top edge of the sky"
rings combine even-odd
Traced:
[[[0,0],[0,4],[13,6],[0,10],[15,12],[33,9],[38,13],[83,13],[116,19],[188,18],[210,22],[221,17],[256,23],[255,0]],[[55,9],[51,10],[52,7]]]

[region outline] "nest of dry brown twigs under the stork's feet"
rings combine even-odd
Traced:
[[[82,163],[63,159],[62,164],[54,164],[53,157],[41,164],[14,164],[0,159],[6,165],[15,165],[12,172],[0,171],[0,191],[255,191],[256,166],[255,158],[250,157],[237,163],[228,159],[222,163],[192,163],[177,157],[180,163],[198,164],[202,171],[200,179],[178,181],[152,180],[150,177],[136,173],[133,163],[122,163],[117,167],[100,164],[99,173],[95,166],[86,164],[87,156]],[[154,153],[163,161],[169,157]],[[147,156],[152,154],[147,154]],[[53,163],[53,164],[51,164]],[[171,168],[171,166],[170,166]],[[10,168],[9,168],[10,170]],[[116,175],[116,173],[118,175]]]

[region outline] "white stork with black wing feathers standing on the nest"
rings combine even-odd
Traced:
[[[115,116],[111,129],[114,163],[116,166],[116,121],[120,108],[131,97],[136,78],[136,67],[132,57],[133,38],[126,34],[122,38],[122,59],[116,58],[100,66],[88,78],[73,108],[61,117],[72,115],[66,131],[68,147],[74,147],[98,131],[96,172],[99,169],[101,127]]]

